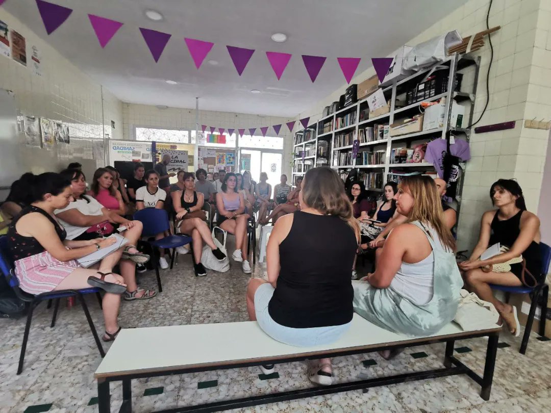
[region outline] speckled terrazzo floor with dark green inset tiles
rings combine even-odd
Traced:
[[[229,244],[230,252],[233,247]],[[191,257],[161,273],[163,293],[151,300],[123,301],[120,323],[127,327],[152,327],[247,320],[245,288],[249,275],[232,262],[228,273],[208,271],[203,278],[192,272]],[[263,276],[265,265],[253,267]],[[154,271],[141,275],[141,287],[156,288]],[[102,317],[95,297],[87,298],[94,323],[101,333]],[[52,309],[41,304],[33,317],[23,373],[17,362],[23,339],[24,318],[0,319],[0,412],[95,412],[98,411],[94,371],[101,358],[79,306],[62,302],[56,327],[50,328]],[[551,411],[551,341],[532,334],[525,356],[518,353],[521,338],[503,333],[489,401],[466,376],[452,376],[372,388],[315,398],[288,401],[246,412],[547,412]],[[408,349],[395,360],[378,354],[333,359],[336,380],[352,381],[428,368],[441,368],[444,344]],[[481,374],[485,339],[456,342],[455,355]],[[109,344],[104,344],[105,350]],[[152,349],[154,351],[154,349]],[[143,357],[148,357],[143,354]],[[210,401],[282,392],[311,386],[302,362],[279,365],[276,377],[259,377],[257,367],[182,374],[132,381],[133,411],[183,407]],[[278,377],[277,377],[278,376]],[[122,401],[120,384],[111,384],[111,409]]]

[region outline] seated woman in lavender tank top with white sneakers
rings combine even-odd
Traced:
[[[216,206],[218,226],[235,235],[236,249],[231,257],[237,262],[242,262],[241,269],[245,274],[251,274],[251,265],[247,259],[247,221],[250,215],[245,214],[245,199],[237,189],[235,173],[226,173],[222,192],[216,194]]]

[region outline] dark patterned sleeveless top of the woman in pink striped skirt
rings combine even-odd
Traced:
[[[12,258],[14,261],[18,259],[34,256],[40,254],[41,252],[46,251],[44,247],[36,240],[34,237],[25,237],[20,235],[19,232],[15,229],[15,224],[21,219],[21,216],[30,214],[33,212],[40,213],[44,215],[50,222],[53,224],[53,227],[56,229],[57,236],[60,237],[61,241],[64,241],[67,237],[67,232],[65,229],[56,222],[55,219],[51,217],[44,209],[39,208],[38,206],[29,205],[21,211],[21,214],[17,217],[15,221],[12,222],[8,230],[8,246],[12,252]]]

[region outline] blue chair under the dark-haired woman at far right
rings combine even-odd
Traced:
[[[530,339],[530,333],[532,332],[532,324],[534,322],[534,314],[536,314],[536,307],[538,306],[539,296],[542,296],[542,312],[539,317],[539,335],[545,336],[545,318],[547,317],[547,300],[549,298],[549,286],[545,284],[545,274],[549,272],[549,264],[551,263],[551,247],[547,244],[540,242],[539,248],[542,253],[542,274],[543,280],[535,287],[509,287],[505,285],[490,284],[492,290],[499,290],[505,292],[505,302],[509,302],[511,292],[514,294],[532,294],[532,305],[530,306],[530,312],[528,313],[528,319],[526,320],[526,327],[524,335],[522,336],[522,344],[520,346],[520,354],[526,354],[526,347],[528,346],[528,339]]]

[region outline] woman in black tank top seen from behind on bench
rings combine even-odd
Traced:
[[[350,270],[359,227],[337,173],[309,170],[299,194],[301,210],[280,218],[266,250],[268,281],[252,279],[249,318],[272,338],[295,346],[329,344],[346,332],[353,316]],[[264,373],[273,365],[263,366]],[[331,384],[331,360],[309,378]]]

